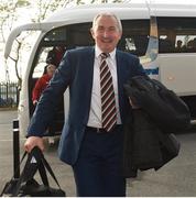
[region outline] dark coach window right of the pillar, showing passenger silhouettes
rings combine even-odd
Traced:
[[[195,53],[196,18],[157,18],[160,53]]]

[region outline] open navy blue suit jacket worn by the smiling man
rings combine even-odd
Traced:
[[[123,91],[123,84],[132,76],[144,75],[139,58],[117,51],[117,76],[119,107],[122,123],[130,110],[129,100]],[[69,113],[64,124],[58,153],[62,161],[74,164],[78,156],[80,142],[88,122],[92,76],[94,76],[95,48],[86,47],[67,51],[63,61],[43,92],[39,106],[31,120],[29,136],[42,136],[48,123],[53,120],[53,111],[58,98],[69,87]]]

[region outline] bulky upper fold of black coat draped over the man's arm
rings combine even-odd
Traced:
[[[124,89],[133,103],[144,109],[163,131],[170,133],[190,125],[186,103],[160,81],[148,76],[135,76],[124,85]]]

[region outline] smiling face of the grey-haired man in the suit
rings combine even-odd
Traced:
[[[99,16],[91,29],[92,37],[104,53],[110,53],[115,50],[121,34],[117,20],[109,15]]]

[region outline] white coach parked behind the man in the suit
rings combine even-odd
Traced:
[[[100,11],[113,12],[122,21],[123,35],[118,47],[140,56],[146,73],[181,96],[193,120],[196,118],[196,4],[87,4],[63,9],[42,23],[22,25],[11,32],[6,58],[22,31],[40,31],[22,79],[19,103],[22,133],[26,133],[33,113],[32,89],[43,74],[48,52],[54,46],[69,50],[94,45],[89,30],[92,18]],[[61,131],[68,106],[67,90],[53,130]]]

